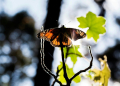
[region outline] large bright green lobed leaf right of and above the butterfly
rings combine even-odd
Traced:
[[[92,12],[88,12],[86,17],[78,17],[77,20],[80,22],[78,27],[89,28],[86,33],[88,39],[93,37],[93,39],[97,42],[99,35],[106,32],[104,27],[106,20],[104,17],[97,17],[96,14]]]

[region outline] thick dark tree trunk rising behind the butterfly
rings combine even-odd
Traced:
[[[62,0],[49,0],[48,2],[48,13],[46,21],[44,23],[44,29],[58,27],[58,19],[60,14],[60,6]],[[51,64],[53,60],[54,47],[49,42],[45,41],[45,64],[51,70]],[[40,59],[40,53],[38,52],[38,58]],[[50,86],[50,76],[43,71],[39,60],[37,74],[34,78],[34,86]]]

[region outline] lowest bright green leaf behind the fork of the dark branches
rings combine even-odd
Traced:
[[[58,66],[58,69],[61,69],[63,66],[62,62],[60,62],[60,65]],[[75,73],[73,72],[73,68],[69,68],[68,65],[66,64],[66,71],[67,71],[67,75],[68,75],[68,78],[70,79]],[[59,72],[59,77],[58,77],[58,80],[60,82],[62,82],[63,84],[66,84],[66,80],[64,78],[64,71],[63,69]],[[73,79],[73,81],[75,83],[79,83],[81,81],[81,77],[78,75],[77,77],[75,77]]]

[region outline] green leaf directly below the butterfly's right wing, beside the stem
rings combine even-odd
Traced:
[[[65,47],[64,57],[70,57],[73,64],[76,63],[77,57],[82,57],[82,54],[78,51],[79,45],[72,45],[71,47]]]

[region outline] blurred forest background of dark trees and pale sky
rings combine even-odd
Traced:
[[[84,39],[84,46],[91,45],[94,59],[107,55],[111,69],[108,86],[120,86],[120,0],[0,0],[0,86],[50,86],[51,77],[40,65],[36,34],[42,25],[45,29],[59,24],[78,28],[76,17],[88,11],[106,18],[107,32],[97,44]],[[45,63],[55,71],[59,63],[53,52],[45,42]],[[83,54],[89,58],[87,51]],[[94,64],[100,67],[97,60]]]

